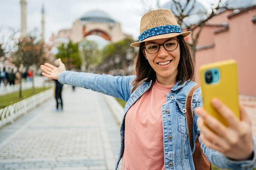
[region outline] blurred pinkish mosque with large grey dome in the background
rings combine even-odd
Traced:
[[[73,43],[78,43],[84,37],[90,35],[100,36],[113,43],[127,37],[132,38],[132,36],[124,34],[120,23],[111,19],[108,14],[103,11],[93,10],[74,21],[72,28],[60,30],[57,35],[53,34],[50,41],[54,41],[57,38],[65,38]]]

